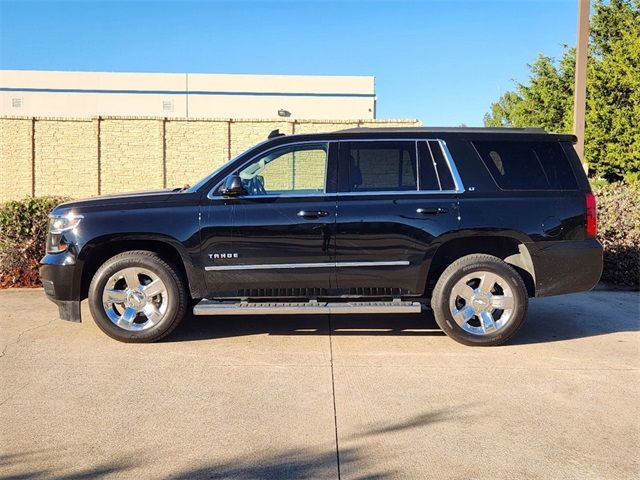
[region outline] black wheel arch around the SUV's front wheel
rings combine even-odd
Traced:
[[[191,258],[180,242],[162,236],[109,235],[91,240],[83,246],[78,255],[82,263],[80,276],[80,298],[87,298],[89,284],[100,266],[109,258],[130,250],[148,250],[178,269],[185,279],[192,298],[202,292],[203,279],[194,268]]]

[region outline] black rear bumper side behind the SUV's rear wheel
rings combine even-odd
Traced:
[[[596,239],[527,244],[535,270],[536,297],[584,292],[602,275],[602,245]]]

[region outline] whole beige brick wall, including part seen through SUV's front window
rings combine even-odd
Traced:
[[[291,134],[419,125],[417,120],[0,117],[0,202],[34,194],[83,198],[193,184],[275,129]],[[298,164],[305,164],[304,172]],[[314,188],[323,165],[320,158],[298,159],[296,188]],[[272,188],[284,188],[293,178],[274,182]]]

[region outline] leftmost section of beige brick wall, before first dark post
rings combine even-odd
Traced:
[[[32,193],[32,120],[0,118],[0,200]]]

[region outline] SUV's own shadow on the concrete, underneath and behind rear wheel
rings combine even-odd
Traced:
[[[566,341],[640,331],[637,292],[532,299],[522,329],[508,345]],[[430,310],[421,314],[190,316],[165,341],[244,335],[444,336]]]

